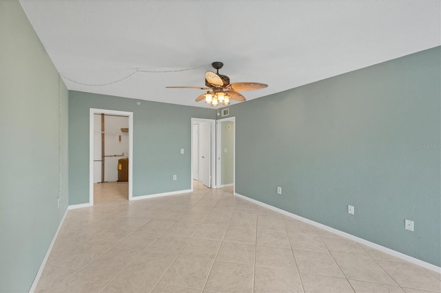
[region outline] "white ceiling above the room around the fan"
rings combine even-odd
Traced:
[[[269,85],[251,100],[441,45],[439,0],[20,2],[68,89],[197,107],[165,87],[204,86],[213,61]]]

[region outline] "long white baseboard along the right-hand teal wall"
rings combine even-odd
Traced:
[[[303,221],[303,222],[305,222],[307,224],[311,224],[311,225],[316,226],[318,228],[321,228],[323,230],[327,230],[327,231],[332,232],[332,233],[334,233],[336,235],[339,235],[341,237],[345,237],[347,239],[351,239],[351,240],[356,241],[358,243],[361,243],[361,244],[363,244],[365,246],[369,246],[371,248],[375,248],[376,250],[380,250],[381,252],[384,252],[384,253],[387,253],[387,254],[391,254],[393,257],[398,257],[399,259],[403,259],[404,261],[409,261],[409,263],[414,263],[416,265],[422,266],[423,268],[427,268],[429,270],[433,270],[434,272],[441,273],[441,268],[438,267],[437,265],[433,265],[431,263],[427,263],[426,261],[422,261],[420,259],[416,259],[415,257],[411,257],[411,256],[409,256],[407,254],[403,254],[403,253],[398,252],[396,250],[391,250],[390,248],[387,248],[387,247],[384,247],[384,246],[380,246],[380,245],[378,245],[376,243],[373,243],[371,241],[367,241],[367,240],[362,239],[360,237],[353,236],[351,234],[348,234],[347,232],[343,232],[343,231],[331,228],[329,226],[320,224],[320,223],[318,223],[316,221],[311,221],[310,219],[307,219],[307,218],[304,218],[304,217],[300,217],[300,216],[298,216],[296,214],[293,214],[293,213],[289,213],[286,210],[282,210],[280,208],[276,208],[274,206],[270,206],[269,204],[265,204],[263,202],[259,202],[258,200],[246,197],[245,195],[240,195],[239,193],[234,193],[234,195],[236,195],[237,197],[246,199],[249,202],[253,202],[254,204],[258,204],[259,206],[263,206],[265,208],[269,208],[269,209],[274,210],[274,211],[276,211],[278,213],[281,213],[283,215],[287,215],[288,217],[292,217],[294,219],[298,219],[299,221]]]

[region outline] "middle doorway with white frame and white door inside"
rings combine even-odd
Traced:
[[[191,186],[216,188],[215,123],[213,119],[192,118]]]

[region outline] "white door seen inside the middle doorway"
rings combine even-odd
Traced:
[[[199,124],[199,181],[211,188],[212,127],[209,122]]]

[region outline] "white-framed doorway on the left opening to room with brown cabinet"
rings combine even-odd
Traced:
[[[89,201],[132,199],[133,113],[90,109]]]

